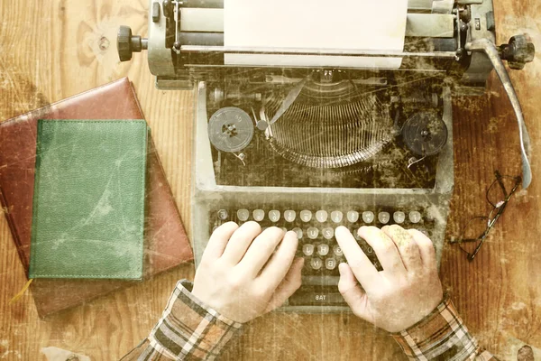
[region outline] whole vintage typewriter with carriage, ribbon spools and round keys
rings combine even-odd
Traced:
[[[226,1],[226,0],[225,0]],[[195,92],[192,230],[198,264],[215,227],[255,220],[294,230],[303,286],[282,310],[349,310],[337,292],[335,227],[414,227],[438,263],[454,186],[454,93],[480,94],[492,69],[529,139],[502,60],[534,58],[525,35],[495,46],[491,0],[409,0],[403,51],[228,48],[224,1],[150,2],[149,37],[118,33],[121,60],[148,50],[156,86]],[[370,35],[366,35],[370,36]],[[401,57],[399,69],[230,66],[225,53]],[[376,267],[371,247],[358,239]]]

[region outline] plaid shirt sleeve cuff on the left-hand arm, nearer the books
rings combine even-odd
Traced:
[[[209,308],[191,294],[192,283],[179,281],[149,338],[123,361],[214,360],[242,324]]]

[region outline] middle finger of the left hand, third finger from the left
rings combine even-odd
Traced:
[[[238,264],[243,269],[242,272],[251,274],[252,278],[257,277],[283,237],[284,232],[279,227],[265,229],[261,235],[253,240],[252,245]]]

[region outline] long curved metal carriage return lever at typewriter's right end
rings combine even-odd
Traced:
[[[520,102],[518,101],[517,93],[511,79],[509,79],[509,74],[503,65],[503,61],[500,59],[500,52],[496,48],[493,42],[488,39],[479,39],[473,42],[468,42],[464,46],[466,51],[484,51],[489,59],[491,60],[492,66],[496,70],[498,77],[500,78],[501,84],[509,97],[511,106],[515,111],[515,116],[517,116],[518,122],[518,134],[520,136],[520,153],[522,158],[522,188],[527,189],[532,181],[532,171],[530,163],[528,160],[528,154],[531,153],[531,143],[530,137],[527,133],[526,123],[524,122],[524,116],[522,115],[522,108],[520,107]]]

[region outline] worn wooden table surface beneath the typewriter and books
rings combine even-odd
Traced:
[[[32,4],[33,3],[33,4]],[[528,32],[541,50],[541,3],[495,4],[499,42]],[[146,57],[121,63],[115,47],[119,25],[145,34],[145,0],[51,0],[0,4],[0,119],[128,76],[151,125],[180,213],[189,225],[192,95],[154,88]],[[441,277],[481,344],[507,359],[513,342],[541,347],[541,57],[511,78],[533,143],[534,181],[511,200],[478,259],[468,263],[447,245]],[[2,144],[0,144],[2,146]],[[493,76],[484,97],[454,99],[455,190],[447,236],[475,214],[488,213],[485,190],[493,171],[518,174],[518,131],[509,101]],[[39,319],[32,295],[8,301],[26,279],[5,218],[0,218],[0,359],[45,359],[41,347],[60,347],[96,360],[117,359],[159,319],[180,278],[193,264],[151,282],[115,292],[49,319]],[[271,314],[249,324],[225,360],[403,359],[379,329],[351,315]]]

